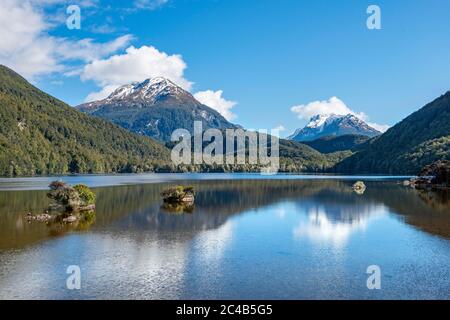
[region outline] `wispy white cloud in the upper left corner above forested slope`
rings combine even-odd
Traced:
[[[49,34],[52,26],[42,6],[61,1],[2,0],[0,2],[0,63],[33,80],[68,69],[67,62],[91,61],[129,45],[130,35],[107,43],[71,40]],[[80,1],[79,3],[84,3]],[[86,2],[88,5],[90,2]]]

